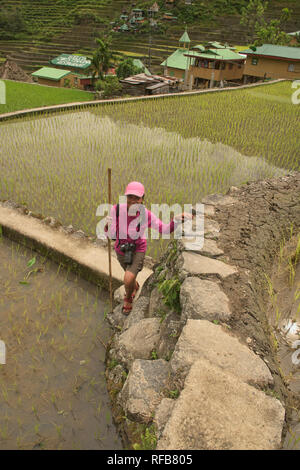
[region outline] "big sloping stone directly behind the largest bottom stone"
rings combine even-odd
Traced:
[[[207,320],[187,320],[170,361],[171,369],[184,377],[198,359],[206,359],[249,384],[273,384],[264,361],[222,326]]]

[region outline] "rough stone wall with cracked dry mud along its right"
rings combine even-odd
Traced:
[[[283,236],[299,231],[300,174],[202,202],[204,245],[171,242],[131,314],[120,304],[108,316],[114,416],[125,447],[278,449],[289,395],[265,275]]]

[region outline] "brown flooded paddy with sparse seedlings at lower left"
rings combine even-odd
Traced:
[[[105,381],[108,295],[0,237],[0,450],[122,449]]]

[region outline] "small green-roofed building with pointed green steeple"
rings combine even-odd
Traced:
[[[165,76],[176,77],[178,80],[184,81],[189,62],[185,54],[189,50],[190,43],[191,40],[185,30],[179,39],[179,48],[160,64],[164,68]],[[193,61],[190,63],[193,64]]]

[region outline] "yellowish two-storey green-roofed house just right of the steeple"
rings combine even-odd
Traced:
[[[189,58],[186,84],[190,88],[224,86],[224,81],[240,82],[243,78],[245,57],[229,46],[218,42],[198,45],[185,56]]]

